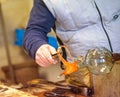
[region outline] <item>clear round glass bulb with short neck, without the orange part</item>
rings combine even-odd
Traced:
[[[85,60],[79,67],[87,66],[93,74],[109,73],[113,67],[112,53],[105,47],[96,47],[88,50]]]

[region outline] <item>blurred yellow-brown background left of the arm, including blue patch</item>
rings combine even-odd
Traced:
[[[17,83],[44,78],[59,81],[62,72],[59,63],[47,68],[39,67],[22,48],[33,0],[0,0],[0,79]],[[54,36],[54,32],[49,35]]]

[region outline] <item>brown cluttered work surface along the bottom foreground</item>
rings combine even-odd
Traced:
[[[29,81],[26,85],[0,84],[0,97],[85,97],[81,90],[64,82],[42,79]]]

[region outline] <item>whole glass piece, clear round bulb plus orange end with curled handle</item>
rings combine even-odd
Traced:
[[[73,62],[66,61],[62,55],[61,48],[65,48],[68,55],[71,56],[66,46],[60,46],[57,50],[58,58],[63,62],[65,70],[61,75],[71,74],[79,68],[87,67],[93,74],[109,73],[113,67],[112,53],[105,47],[96,47],[88,50],[84,60],[82,57],[75,59]],[[72,56],[71,56],[72,58]]]

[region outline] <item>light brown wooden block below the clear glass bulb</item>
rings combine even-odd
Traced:
[[[106,75],[93,75],[94,97],[120,97],[120,61]]]

